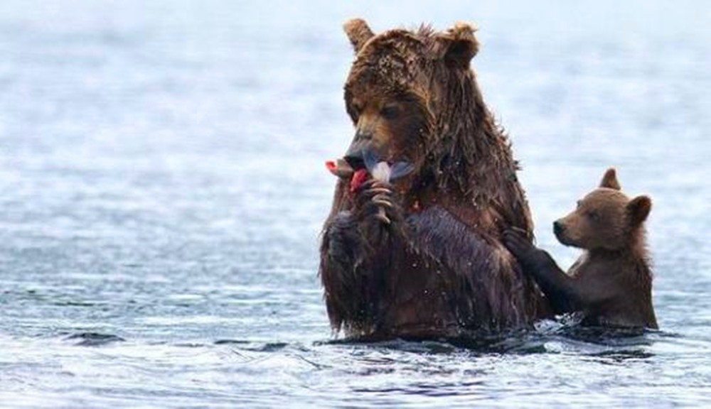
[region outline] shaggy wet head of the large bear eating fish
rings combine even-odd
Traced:
[[[500,143],[483,104],[471,58],[479,50],[474,28],[458,23],[443,33],[422,26],[378,35],[354,19],[344,30],[355,50],[345,85],[355,136],[345,159],[363,165],[365,152],[415,166],[419,180],[469,191],[482,172],[477,157]],[[422,184],[422,183],[421,183]]]

